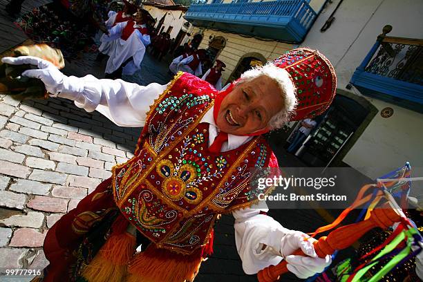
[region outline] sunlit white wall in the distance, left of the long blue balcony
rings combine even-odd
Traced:
[[[182,25],[186,22],[184,19],[185,12],[182,12],[179,10],[164,10],[164,9],[159,9],[155,6],[149,6],[145,4],[144,4],[144,9],[148,10],[151,16],[157,20],[156,26],[157,26],[157,23],[160,21],[160,19],[162,19],[163,15],[167,14],[166,17],[164,18],[163,31],[166,32],[169,26],[173,26],[170,32],[171,39],[176,38],[181,28],[182,30],[187,30],[187,28],[182,27]],[[181,13],[182,13],[182,17],[180,17]]]

